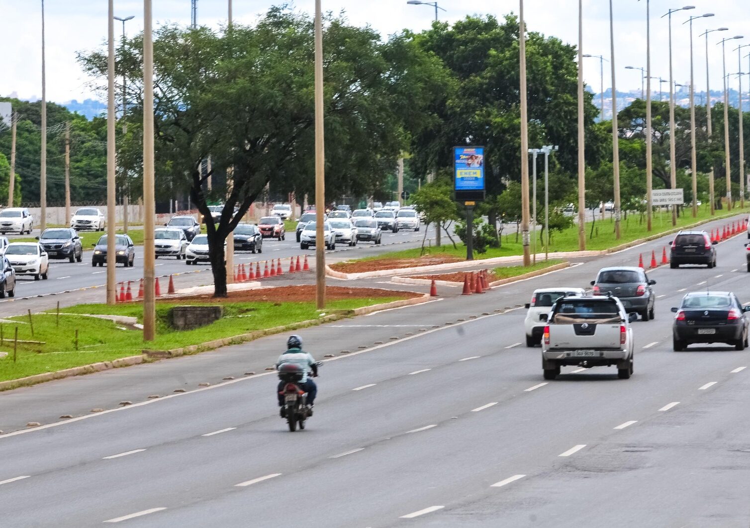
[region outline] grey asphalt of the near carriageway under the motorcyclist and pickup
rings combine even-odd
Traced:
[[[630,380],[568,367],[544,383],[539,349],[521,344],[516,307],[535,287],[586,286],[665,240],[305,330],[335,358],[293,434],[264,371],[285,336],[1,394],[0,428],[18,429],[0,436],[3,523],[748,526],[750,350],[670,340],[686,291],[750,301],[744,236],[718,246],[715,269],[649,272],[656,318],[634,323]],[[125,395],[134,405],[117,407]],[[44,425],[19,429],[31,420]]]

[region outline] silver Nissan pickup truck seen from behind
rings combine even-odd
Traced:
[[[616,365],[617,377],[627,380],[633,374],[634,320],[637,314],[628,314],[616,297],[558,299],[541,338],[544,380],[554,380],[563,365]]]

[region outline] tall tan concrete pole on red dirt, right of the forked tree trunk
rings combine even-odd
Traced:
[[[315,0],[315,301],[326,308],[326,244],[323,213],[326,209],[326,148],[323,141],[323,13]]]

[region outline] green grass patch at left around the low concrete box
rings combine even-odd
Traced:
[[[399,299],[403,297],[330,301],[326,313],[352,310]],[[208,305],[210,303],[194,304]],[[180,332],[169,326],[169,309],[173,306],[176,304],[157,304],[157,338],[147,344],[142,342],[142,333],[139,330],[125,329],[126,327],[118,323],[93,317],[61,315],[59,326],[57,326],[54,313],[33,314],[31,316],[34,323],[33,336],[31,326],[28,324],[28,316],[10,317],[10,320],[17,320],[19,323],[0,324],[4,339],[0,344],[0,352],[9,353],[9,356],[0,359],[0,381],[16,380],[33,374],[136,356],[143,348],[169,350],[187,347],[254,330],[317,320],[320,317],[320,312],[316,310],[314,302],[226,303],[223,305],[223,319],[199,329]],[[77,305],[65,308],[63,312],[66,314],[124,315],[137,317],[140,321],[142,307],[140,305]],[[19,340],[43,341],[44,344],[19,344],[17,362],[13,362],[13,341],[8,341],[8,339],[13,339],[16,328],[18,328]],[[79,350],[75,347],[76,330],[78,330]]]

